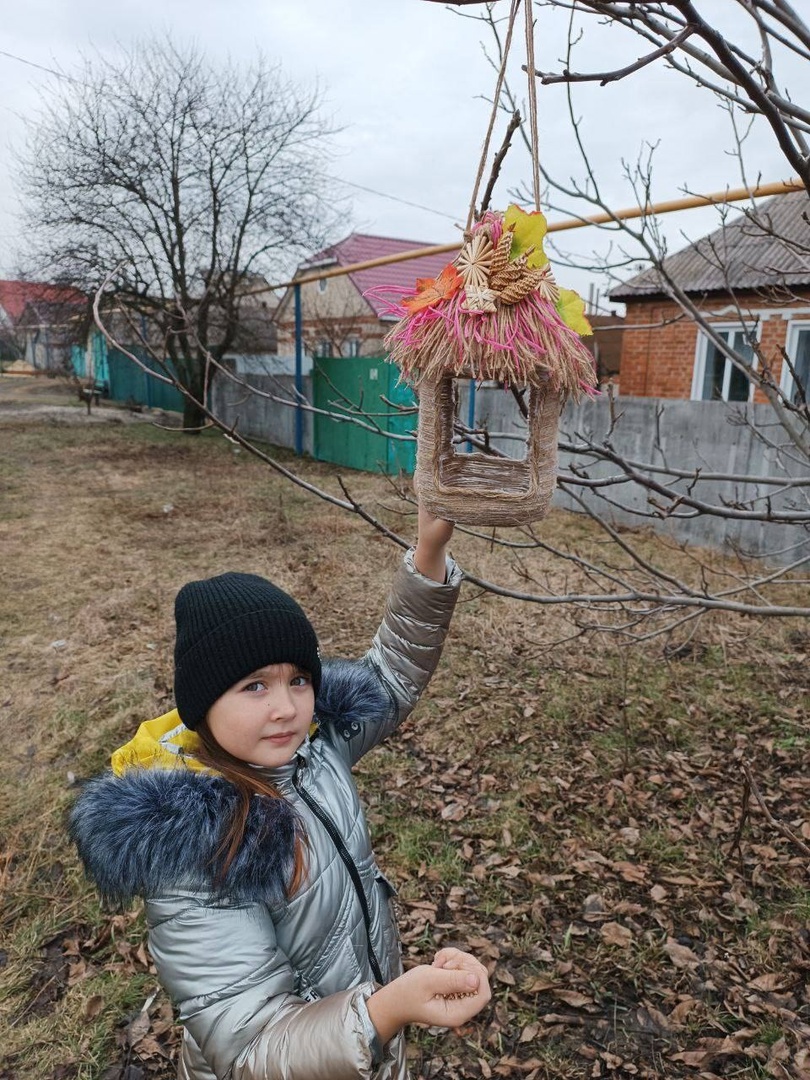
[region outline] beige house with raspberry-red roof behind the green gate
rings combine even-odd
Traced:
[[[394,240],[353,232],[340,243],[325,248],[302,262],[296,276],[353,266],[417,251],[429,244],[414,240]],[[435,278],[453,259],[449,255],[429,255],[390,262],[387,266],[357,270],[339,278],[326,278],[301,285],[301,332],[308,356],[380,356],[382,339],[392,319],[383,303],[364,294],[379,286],[414,291],[417,278]],[[295,305],[288,288],[275,314],[279,353],[295,352]]]

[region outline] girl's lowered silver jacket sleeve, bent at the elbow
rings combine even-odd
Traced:
[[[180,895],[147,903],[149,945],[179,1018],[217,1080],[369,1080],[373,983],[295,994],[267,907]]]

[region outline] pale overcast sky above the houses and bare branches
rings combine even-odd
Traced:
[[[496,11],[505,14],[507,8],[501,2]],[[732,0],[703,0],[702,8],[725,17],[734,32],[739,8]],[[544,8],[537,9],[537,64],[558,69],[566,21]],[[163,32],[178,42],[193,40],[214,57],[247,62],[260,50],[296,81],[320,84],[325,113],[341,129],[330,173],[349,197],[347,233],[435,243],[458,237],[454,222],[465,218],[489,117],[482,95],[491,95],[495,72],[482,50],[483,28],[457,10],[424,0],[27,0],[3,12],[0,37],[0,274],[13,275],[25,258],[9,151],[24,143],[25,121],[36,117],[40,93],[54,81],[30,65],[70,73],[83,52],[114,54],[137,38]],[[640,42],[616,28],[593,27],[575,67],[599,70],[629,63],[642,51]],[[511,78],[524,97],[519,37],[514,52]],[[789,76],[786,81],[789,85]],[[538,91],[542,160],[559,178],[582,181],[565,92],[558,86]],[[575,106],[613,207],[635,202],[622,160],[636,160],[648,144],[658,147],[656,200],[676,198],[685,187],[708,192],[741,183],[730,157],[726,113],[708,93],[660,65],[606,87],[581,84],[575,87]],[[504,124],[496,130],[496,145]],[[787,178],[787,165],[764,124],[751,136],[747,157],[751,178]],[[495,205],[504,206],[510,188],[529,177],[527,154],[513,149]],[[567,216],[577,212],[586,213],[569,203]],[[713,215],[696,211],[662,219],[671,247],[683,246],[684,233],[694,239],[711,229]],[[559,216],[549,213],[550,220]],[[604,253],[609,242],[594,229],[562,237],[566,249],[580,256]],[[583,294],[594,280],[562,268],[557,276]]]

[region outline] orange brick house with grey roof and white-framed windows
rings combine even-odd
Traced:
[[[810,198],[796,191],[771,199],[756,219],[731,218],[664,267],[731,348],[759,359],[793,396],[797,388],[786,351],[810,388]],[[694,401],[762,400],[700,327],[670,298],[654,268],[610,293],[626,305],[621,392]]]

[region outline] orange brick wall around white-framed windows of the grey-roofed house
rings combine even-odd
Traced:
[[[746,320],[760,326],[764,356],[779,382],[782,374],[782,349],[792,320],[810,319],[810,291],[800,291],[789,303],[768,305],[757,294],[737,298]],[[714,298],[699,305],[717,323],[739,323],[732,305]],[[683,314],[673,300],[627,301],[622,334],[622,395],[638,397],[689,399],[698,347],[699,327]],[[765,401],[757,391],[755,401]]]

